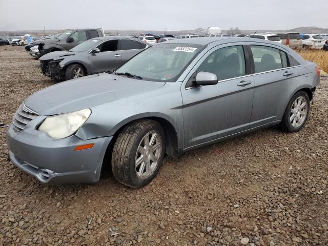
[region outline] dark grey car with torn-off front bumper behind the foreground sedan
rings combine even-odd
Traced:
[[[149,45],[131,37],[91,38],[69,51],[53,51],[39,58],[41,72],[56,80],[69,80],[120,67]]]

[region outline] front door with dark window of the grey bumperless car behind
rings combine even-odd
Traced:
[[[101,73],[118,68],[122,64],[121,51],[118,49],[118,39],[107,40],[96,48],[99,53],[89,53],[91,73]]]

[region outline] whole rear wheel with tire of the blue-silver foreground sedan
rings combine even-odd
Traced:
[[[299,106],[298,103],[300,103]],[[302,107],[302,105],[304,106]],[[309,113],[309,95],[305,91],[298,91],[289,101],[287,108],[285,109],[285,112],[282,116],[282,120],[279,124],[279,128],[285,132],[298,132],[303,128],[306,120],[308,120]]]

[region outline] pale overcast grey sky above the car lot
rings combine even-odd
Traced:
[[[328,28],[327,13],[323,0],[0,0],[0,30]]]

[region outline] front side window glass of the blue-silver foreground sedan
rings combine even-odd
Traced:
[[[242,46],[224,47],[214,51],[202,62],[197,72],[214,73],[219,80],[245,75],[245,58]]]

